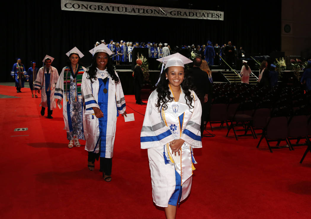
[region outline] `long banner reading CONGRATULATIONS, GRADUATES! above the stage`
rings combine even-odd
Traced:
[[[101,2],[82,2],[61,0],[62,10],[79,12],[97,12],[110,14],[145,15],[156,17],[177,17],[208,20],[224,20],[224,12],[191,10],[169,7],[149,7]]]

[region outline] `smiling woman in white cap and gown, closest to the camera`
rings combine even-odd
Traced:
[[[164,57],[165,72],[148,99],[141,131],[153,202],[164,207],[167,218],[175,218],[177,204],[190,193],[196,163],[192,150],[202,147],[201,103],[184,77],[184,64],[190,62],[179,53]]]

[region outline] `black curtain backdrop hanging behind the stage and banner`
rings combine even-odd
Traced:
[[[206,45],[207,40],[223,45],[230,40],[237,48],[243,46],[248,55],[269,55],[281,49],[281,0],[260,1],[256,6],[251,1],[109,2],[223,11],[224,21],[62,11],[60,0],[7,2],[2,7],[1,60],[5,66],[1,82],[13,81],[10,72],[17,57],[28,69],[31,60],[41,67],[48,54],[55,58],[52,66],[60,73],[68,60],[65,53],[74,46],[85,55],[81,61],[87,67],[92,57],[88,51],[102,39],[162,42],[171,48]]]

